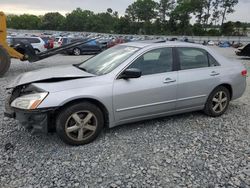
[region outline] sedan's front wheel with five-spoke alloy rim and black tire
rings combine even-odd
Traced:
[[[92,142],[102,131],[104,116],[94,104],[81,102],[64,108],[56,119],[56,132],[69,145]]]

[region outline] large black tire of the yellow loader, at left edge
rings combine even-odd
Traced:
[[[3,46],[0,45],[0,77],[10,68],[10,56]]]

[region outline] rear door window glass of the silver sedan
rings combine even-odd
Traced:
[[[181,70],[208,67],[207,52],[198,48],[177,48]]]

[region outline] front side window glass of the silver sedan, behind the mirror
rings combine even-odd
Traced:
[[[142,75],[172,71],[172,48],[160,48],[149,51],[135,60],[129,68],[138,68]]]

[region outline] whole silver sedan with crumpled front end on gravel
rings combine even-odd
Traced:
[[[93,141],[104,126],[203,110],[220,116],[246,88],[245,67],[210,48],[132,42],[73,66],[41,69],[9,86],[5,115],[67,144]]]

